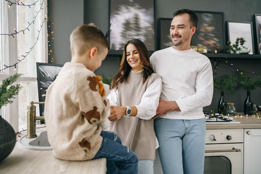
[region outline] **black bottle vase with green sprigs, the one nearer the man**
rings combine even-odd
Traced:
[[[227,102],[225,99],[224,92],[233,93],[235,92],[235,87],[237,87],[237,74],[223,75],[221,77],[214,73],[213,81],[214,87],[221,90],[221,97],[218,102],[218,113],[226,115],[227,113]]]

